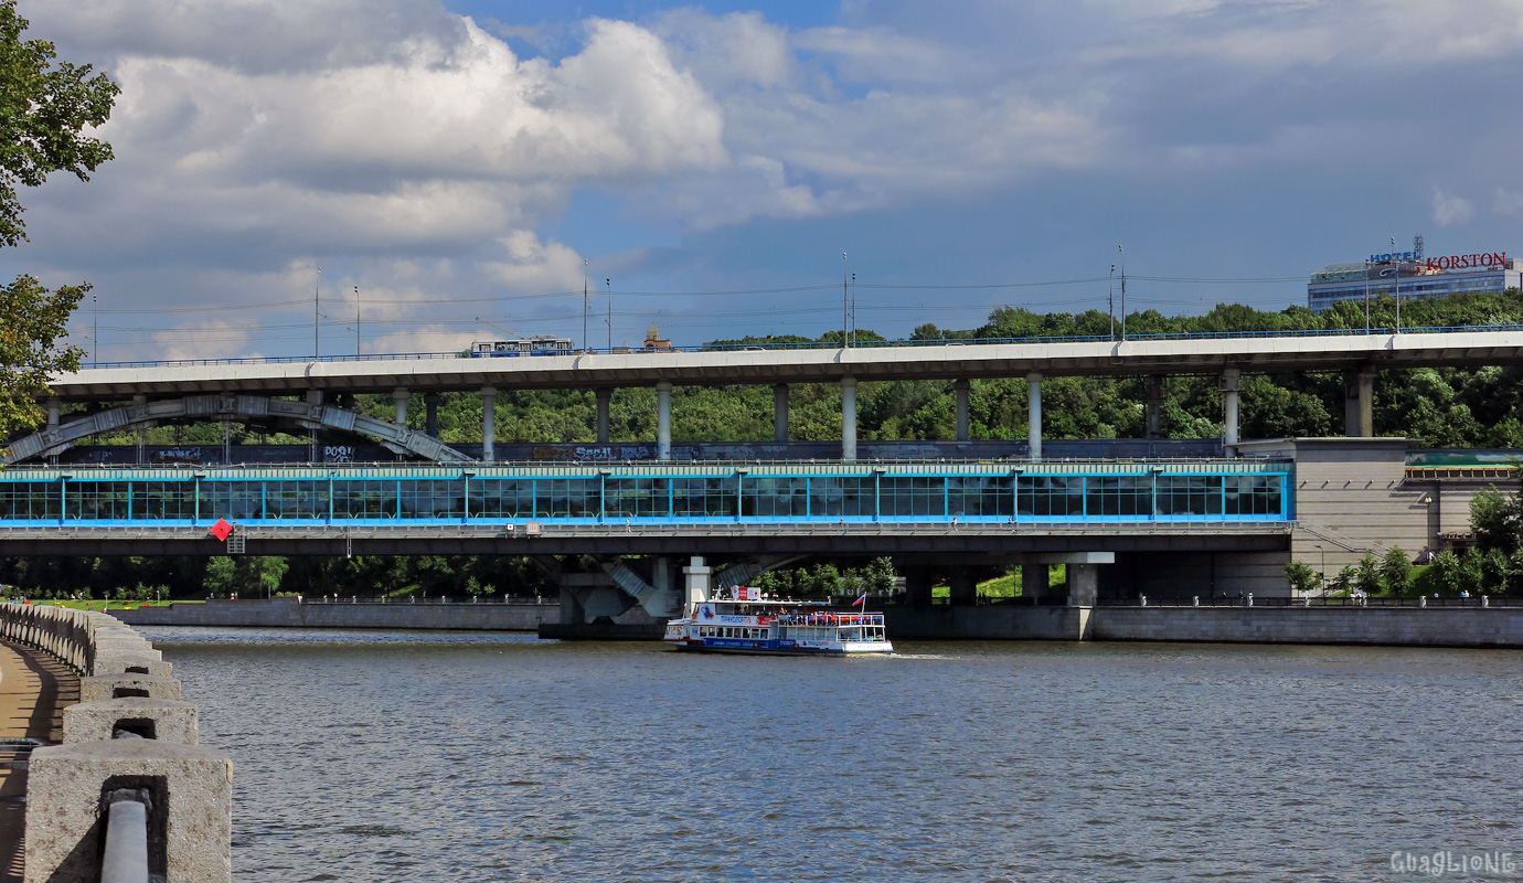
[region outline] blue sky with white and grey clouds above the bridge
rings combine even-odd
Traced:
[[[885,336],[1106,311],[1121,263],[1132,312],[1282,309],[1392,237],[1523,254],[1523,0],[18,11],[122,87],[116,158],[0,251],[94,286],[87,361],[816,336],[851,274]]]

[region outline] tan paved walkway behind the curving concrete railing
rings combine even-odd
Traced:
[[[0,641],[0,738],[64,738],[64,706],[79,700],[79,677],[43,653]],[[0,743],[3,744],[3,743]],[[0,748],[0,883],[21,881],[26,770]]]

